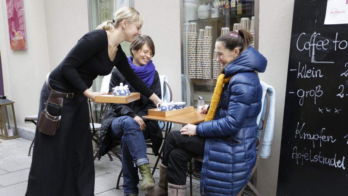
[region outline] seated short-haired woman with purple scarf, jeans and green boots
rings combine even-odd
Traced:
[[[131,56],[128,62],[135,74],[139,76],[149,88],[161,98],[161,85],[158,72],[151,58],[155,55],[155,46],[149,36],[138,36],[130,45]],[[112,71],[109,85],[111,88],[120,83],[127,84],[130,92],[138,92],[131,86],[116,68]],[[116,145],[113,140],[121,140],[123,190],[125,195],[138,195],[138,168],[142,174],[141,189],[146,190],[155,186],[151,175],[149,159],[146,155],[145,140],[151,139],[152,150],[158,155],[162,144],[162,133],[157,121],[143,120],[148,110],[155,108],[147,97],[140,95],[140,99],[128,104],[113,104],[102,123],[100,135],[101,145],[99,159]]]

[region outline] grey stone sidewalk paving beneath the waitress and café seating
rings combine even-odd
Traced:
[[[31,156],[28,156],[31,141],[23,138],[12,140],[0,139],[0,195],[1,196],[24,196],[28,183]],[[117,190],[116,183],[122,164],[115,157],[110,161],[108,157],[102,157],[100,161],[94,161],[95,166],[95,186],[96,196],[121,196],[122,187]],[[158,182],[158,169],[154,174]],[[140,177],[141,179],[141,177]],[[200,195],[199,180],[193,180],[193,195]],[[123,184],[121,178],[120,184]],[[138,185],[140,190],[140,183]],[[187,178],[187,194],[190,195],[190,181]],[[139,195],[145,195],[145,191],[140,191]]]

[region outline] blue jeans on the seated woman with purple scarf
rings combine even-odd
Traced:
[[[109,128],[110,136],[121,139],[122,149],[122,175],[123,190],[125,195],[137,195],[139,193],[138,168],[149,159],[146,156],[146,145],[143,131],[139,124],[130,116],[121,116],[114,119]]]

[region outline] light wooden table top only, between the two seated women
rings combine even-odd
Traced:
[[[164,121],[164,122],[172,122],[177,123],[181,125],[187,125],[187,124],[198,124],[200,122],[204,122],[207,114],[200,114],[197,111],[178,114],[175,116],[154,116],[154,115],[146,115],[143,116],[143,119],[149,119],[149,120],[157,120],[157,121]]]

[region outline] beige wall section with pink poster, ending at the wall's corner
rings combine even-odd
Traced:
[[[5,95],[15,101],[17,126],[38,112],[40,90],[49,70],[43,0],[23,0],[27,50],[10,50],[6,1],[0,6],[0,50]]]

